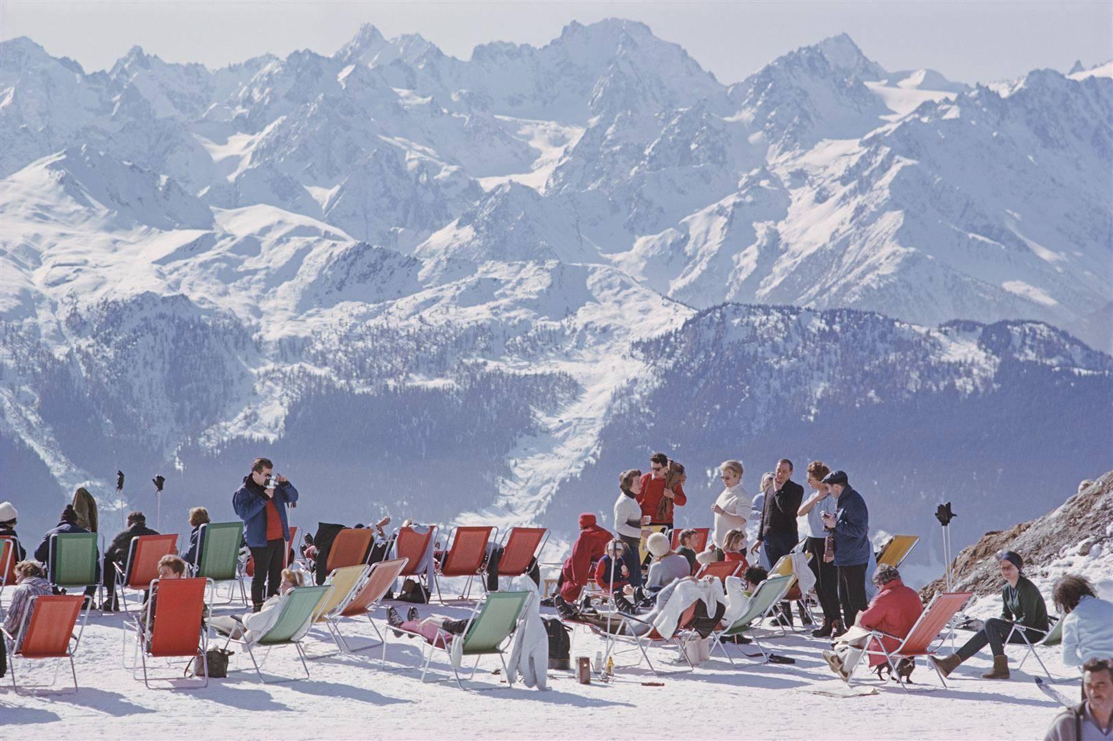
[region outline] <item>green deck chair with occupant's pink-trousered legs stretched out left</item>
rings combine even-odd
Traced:
[[[411,633],[411,635],[416,635],[421,638],[422,651],[425,654],[421,681],[425,681],[430,661],[432,661],[433,654],[437,650],[451,655],[452,642],[463,641],[461,655],[475,656],[475,664],[472,665],[472,673],[469,675],[469,680],[475,677],[475,670],[480,665],[480,659],[490,654],[498,654],[499,661],[502,662],[502,675],[506,677],[508,686],[513,688],[514,677],[506,669],[506,660],[503,659],[502,646],[518,628],[519,618],[522,616],[525,603],[532,594],[532,592],[492,592],[484,602],[475,604],[475,608],[472,611],[472,615],[467,620],[467,625],[461,635],[452,635],[443,630],[439,630],[432,643],[425,641],[425,637],[417,633],[397,628],[402,630],[403,633]],[[449,666],[452,667],[452,673],[456,679],[456,686],[463,690],[464,685],[460,681],[460,670],[451,661],[449,662]],[[499,688],[489,689],[496,690]]]

